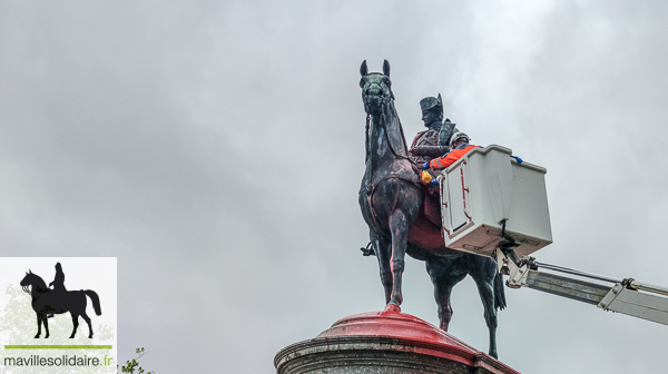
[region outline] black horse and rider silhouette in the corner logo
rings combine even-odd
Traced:
[[[53,288],[50,288],[50,287]],[[32,309],[37,314],[37,335],[38,338],[41,335],[41,326],[45,325],[45,338],[49,337],[49,321],[48,318],[53,317],[55,314],[62,314],[69,312],[72,317],[72,334],[70,338],[73,338],[77,334],[77,327],[79,327],[79,316],[88,324],[88,337],[92,338],[92,326],[90,325],[90,317],[86,314],[86,296],[90,297],[95,314],[98,316],[102,314],[100,308],[100,298],[95,291],[80,289],[80,291],[67,291],[65,288],[65,273],[62,272],[62,265],[56,264],[56,276],[53,282],[49,283],[49,286],[45,280],[32,270],[28,270],[26,276],[21,280],[21,287],[23,291],[32,297]]]

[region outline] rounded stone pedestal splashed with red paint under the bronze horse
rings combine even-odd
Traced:
[[[371,312],[342,318],[274,358],[277,374],[488,374],[509,366],[410,314]]]

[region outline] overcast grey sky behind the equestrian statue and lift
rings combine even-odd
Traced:
[[[118,354],[273,373],[284,346],[384,306],[357,206],[363,60],[477,145],[548,169],[539,260],[668,286],[668,2],[0,2],[2,256],[118,257]],[[424,264],[403,311],[438,325]],[[522,373],[665,370],[668,328],[508,289]],[[450,332],[487,352],[471,278]]]

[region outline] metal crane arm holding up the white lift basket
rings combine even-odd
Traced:
[[[511,288],[529,287],[552,295],[593,304],[603,311],[622,313],[668,325],[668,288],[640,283],[632,278],[615,279],[560,266],[541,264],[529,256],[524,256],[515,263],[499,249],[494,256],[499,264],[499,272],[509,276],[507,285]],[[610,287],[593,282],[539,272],[538,268],[609,282],[615,285]]]

